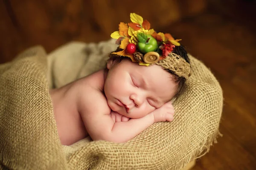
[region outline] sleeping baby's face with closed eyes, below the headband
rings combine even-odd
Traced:
[[[176,88],[172,75],[159,65],[147,67],[123,59],[109,67],[104,91],[113,111],[140,118],[172,99]]]

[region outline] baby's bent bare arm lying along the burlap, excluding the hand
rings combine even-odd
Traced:
[[[95,109],[84,113],[82,118],[93,140],[127,142],[154,123],[154,114],[148,114],[140,119],[130,119],[127,122],[114,122],[110,113],[103,110],[104,107],[99,108],[93,105],[91,107]]]

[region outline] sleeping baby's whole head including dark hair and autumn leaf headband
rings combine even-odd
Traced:
[[[140,118],[183,91],[190,65],[179,40],[148,30],[148,21],[136,14],[131,14],[131,20],[129,28],[120,23],[118,35],[111,34],[120,45],[110,54],[104,91],[113,111]]]

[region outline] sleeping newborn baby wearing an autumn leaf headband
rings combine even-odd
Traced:
[[[173,120],[171,100],[180,94],[190,72],[186,51],[177,40],[160,39],[159,33],[128,29],[132,35],[121,42],[118,37],[119,48],[110,54],[106,69],[50,91],[61,144],[88,135],[127,142],[155,122]],[[143,48],[140,43],[156,47]]]

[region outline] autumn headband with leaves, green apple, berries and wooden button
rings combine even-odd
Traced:
[[[119,45],[116,51],[110,54],[116,57],[129,57],[139,65],[160,65],[166,70],[173,71],[179,77],[186,79],[190,74],[190,65],[179,55],[172,53],[175,46],[180,46],[171,34],[157,33],[150,29],[148,20],[135,13],[130,14],[131,23],[120,23],[119,31],[111,34]]]

